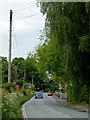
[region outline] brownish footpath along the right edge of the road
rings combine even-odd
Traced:
[[[76,109],[80,112],[90,113],[90,109],[89,109],[88,106],[83,106],[83,105],[80,105],[80,104],[71,104],[66,99],[61,99],[60,97],[58,97],[56,95],[53,95],[53,98],[56,100],[56,102],[60,103],[62,106],[72,108],[72,109]]]

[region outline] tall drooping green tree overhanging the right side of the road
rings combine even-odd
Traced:
[[[86,100],[90,84],[89,7],[90,3],[40,3],[46,21],[38,68],[49,71],[57,84],[72,82],[68,100],[73,103]]]

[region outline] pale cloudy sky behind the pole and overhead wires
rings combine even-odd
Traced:
[[[40,43],[41,30],[45,25],[45,16],[36,3],[36,0],[0,2],[0,56],[9,59],[10,9],[13,11],[11,59],[26,58],[27,53],[35,51]]]

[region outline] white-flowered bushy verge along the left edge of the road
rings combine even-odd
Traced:
[[[27,92],[27,90],[25,91]],[[3,89],[2,119],[8,120],[12,118],[20,118],[21,105],[29,100],[33,95],[35,95],[35,92],[30,90],[28,90],[27,97],[25,97],[22,90],[9,93]]]

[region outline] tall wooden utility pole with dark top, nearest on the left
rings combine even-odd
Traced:
[[[11,83],[11,39],[12,39],[12,10],[10,10],[8,83]]]

